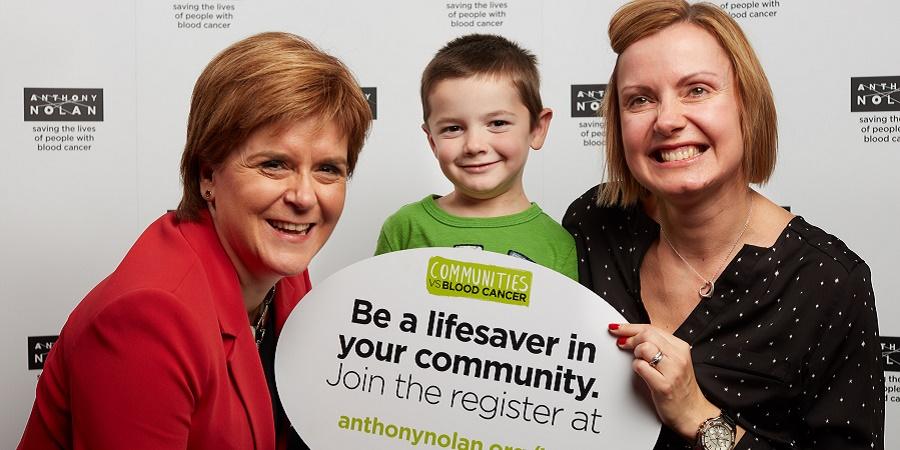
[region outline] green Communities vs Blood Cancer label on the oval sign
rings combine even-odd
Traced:
[[[506,305],[528,306],[532,274],[527,270],[491,266],[432,256],[425,287],[432,295],[466,297]]]

